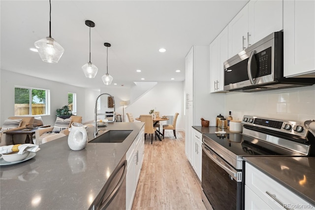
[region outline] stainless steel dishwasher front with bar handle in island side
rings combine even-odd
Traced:
[[[109,176],[89,210],[126,210],[126,155]]]

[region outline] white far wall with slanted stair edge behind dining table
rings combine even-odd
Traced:
[[[178,112],[176,130],[184,131],[184,82],[158,82],[137,101],[127,105],[125,114],[130,112],[136,118],[140,114],[149,114],[150,109],[159,111],[160,116],[174,115]],[[127,117],[126,122],[128,122]],[[163,123],[165,122],[161,121],[161,124]]]

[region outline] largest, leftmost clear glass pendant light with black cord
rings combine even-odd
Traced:
[[[49,37],[35,41],[34,45],[38,50],[42,61],[47,63],[58,63],[63,55],[63,47],[51,37],[51,2],[49,0]]]

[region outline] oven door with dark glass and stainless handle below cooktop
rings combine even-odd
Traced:
[[[242,210],[242,172],[232,168],[219,155],[202,144],[203,202],[214,210]]]

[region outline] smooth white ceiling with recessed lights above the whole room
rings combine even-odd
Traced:
[[[1,0],[1,70],[99,89],[108,72],[113,83],[183,81],[185,56],[192,45],[209,45],[248,0],[52,0],[52,37],[64,53],[57,64],[41,61],[34,42],[49,35],[49,0]],[[98,67],[94,79],[81,67]],[[166,52],[158,52],[159,48]],[[137,73],[136,70],[142,70]],[[176,73],[175,70],[181,70]],[[140,80],[145,78],[145,80]]]

